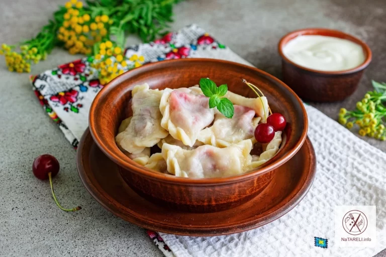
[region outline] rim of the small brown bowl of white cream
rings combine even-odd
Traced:
[[[311,32],[310,34],[302,34],[304,32]],[[334,35],[329,35],[329,37],[334,37],[334,38],[342,38],[342,39],[346,39],[346,40],[349,40],[349,41],[352,41],[356,44],[359,44],[362,49],[363,49],[363,52],[366,54],[366,59],[364,60],[364,62],[359,65],[359,66],[356,66],[354,68],[351,68],[351,69],[348,69],[348,70],[340,70],[340,71],[321,71],[321,70],[315,70],[315,69],[310,69],[310,68],[307,68],[307,67],[304,67],[302,65],[299,65],[291,60],[289,60],[283,53],[283,47],[291,40],[295,39],[296,37],[298,36],[302,36],[302,35],[320,35],[320,33],[332,33]],[[336,37],[335,35],[341,35],[342,37]],[[333,29],[326,29],[326,28],[305,28],[305,29],[299,29],[299,30],[294,30],[292,32],[289,32],[287,33],[286,35],[284,35],[278,45],[277,45],[277,48],[278,48],[278,52],[279,52],[279,55],[280,57],[286,61],[287,63],[290,63],[302,70],[306,70],[306,71],[310,71],[310,72],[314,72],[314,73],[319,73],[319,74],[328,74],[328,75],[345,75],[345,74],[352,74],[352,73],[355,73],[355,72],[358,72],[358,71],[361,71],[363,69],[365,69],[371,62],[371,59],[372,59],[372,53],[371,53],[371,49],[368,47],[368,45],[363,42],[362,40],[360,40],[359,38],[357,37],[354,37],[350,34],[347,34],[347,33],[344,33],[343,31],[339,31],[339,30],[333,30]]]

